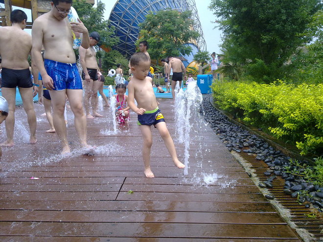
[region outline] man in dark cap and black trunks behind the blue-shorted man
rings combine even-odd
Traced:
[[[93,119],[93,116],[103,117],[97,112],[97,91],[100,87],[100,74],[99,67],[96,61],[96,54],[94,45],[100,41],[100,35],[98,32],[92,32],[90,34],[90,48],[85,49],[82,46],[78,48],[78,53],[80,54],[81,66],[82,66],[82,79],[84,85],[84,107],[86,112],[86,117]],[[92,112],[90,113],[90,98],[92,104]]]

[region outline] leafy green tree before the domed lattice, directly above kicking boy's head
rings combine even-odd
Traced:
[[[161,59],[165,56],[179,56],[190,54],[190,46],[199,33],[192,29],[194,20],[191,11],[179,12],[167,9],[146,15],[144,22],[140,23],[140,41],[149,44],[149,55],[152,59]]]

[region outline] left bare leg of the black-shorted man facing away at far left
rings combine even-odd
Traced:
[[[1,93],[8,102],[9,113],[5,120],[7,140],[1,143],[0,146],[11,147],[15,145],[13,142],[13,134],[15,126],[16,88],[1,88]]]

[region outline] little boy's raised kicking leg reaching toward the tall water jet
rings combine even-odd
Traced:
[[[177,157],[174,141],[173,141],[172,137],[170,136],[170,133],[168,132],[168,129],[166,127],[166,123],[160,122],[160,123],[156,124],[155,126],[158,129],[159,133],[161,134],[161,137],[163,138],[163,140],[165,142],[166,148],[167,148],[169,154],[172,156],[172,160],[173,160],[175,166],[177,166],[178,168],[184,168],[185,165],[181,161],[179,161],[179,159]]]

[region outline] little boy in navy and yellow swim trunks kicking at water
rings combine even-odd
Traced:
[[[135,53],[130,59],[131,73],[133,77],[128,85],[129,107],[138,114],[138,125],[143,138],[142,158],[144,174],[146,177],[155,177],[150,169],[150,150],[152,146],[151,126],[158,129],[163,138],[174,165],[184,168],[185,165],[178,160],[175,145],[170,136],[165,120],[157,106],[157,100],[152,86],[152,78],[148,77],[150,59],[142,52]],[[138,105],[135,105],[136,99]]]

